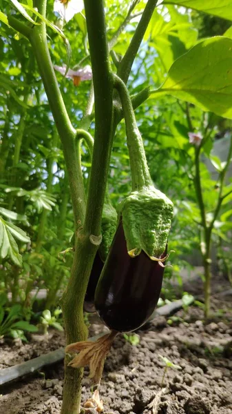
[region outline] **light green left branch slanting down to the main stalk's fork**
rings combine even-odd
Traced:
[[[39,12],[43,15],[43,17],[45,17],[46,0],[37,0],[36,7],[39,9]],[[78,221],[81,220],[81,222],[83,222],[85,214],[85,190],[83,186],[81,161],[76,150],[76,131],[72,127],[70,118],[67,115],[67,110],[65,108],[63,97],[61,95],[56,75],[54,73],[54,68],[52,66],[52,60],[48,50],[46,26],[44,22],[41,22],[39,26],[36,26],[33,30],[31,30],[29,40],[36,57],[56,128],[63,144],[63,154],[70,180],[74,222],[75,228],[77,228]]]

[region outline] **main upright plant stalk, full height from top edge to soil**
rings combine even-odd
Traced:
[[[103,1],[85,0],[85,16],[94,82],[95,135],[85,222],[83,229],[76,233],[72,274],[62,299],[67,344],[87,338],[83,302],[98,248],[90,242],[89,236],[101,235],[101,215],[113,139],[113,81],[109,70]],[[83,370],[68,366],[69,362],[70,355],[66,355],[61,414],[76,414],[80,410]]]

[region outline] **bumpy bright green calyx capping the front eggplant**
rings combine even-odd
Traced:
[[[132,191],[120,202],[119,209],[128,254],[134,257],[144,250],[152,260],[159,261],[171,228],[172,201],[154,186],[148,186]]]

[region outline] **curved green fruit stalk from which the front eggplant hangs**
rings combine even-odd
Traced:
[[[115,75],[114,87],[118,90],[123,106],[125,126],[127,132],[127,146],[129,150],[129,162],[131,165],[132,190],[140,190],[145,186],[152,186],[152,180],[147,166],[143,139],[136,124],[131,98],[125,83]]]

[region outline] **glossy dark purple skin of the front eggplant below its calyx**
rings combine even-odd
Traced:
[[[165,257],[165,252],[160,256]],[[96,311],[109,329],[129,332],[142,326],[156,308],[164,268],[146,253],[130,257],[120,222],[95,292]]]

